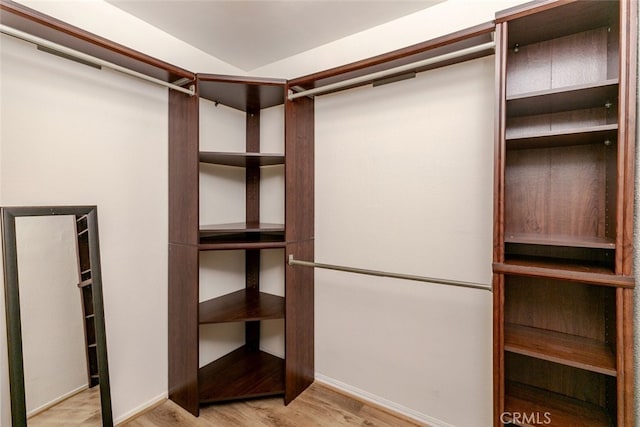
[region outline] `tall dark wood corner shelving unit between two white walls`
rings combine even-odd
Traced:
[[[285,102],[287,89],[284,80],[199,74],[198,96],[170,93],[169,397],[195,415],[201,404],[234,399],[284,395],[289,403],[313,382],[313,271],[285,266],[289,254],[313,259],[313,101]],[[199,98],[245,114],[244,151],[201,150]],[[279,105],[285,108],[285,152],[264,153],[260,113]],[[216,190],[199,188],[204,164],[244,171],[244,192],[237,197],[244,198],[245,213],[237,222],[200,220],[203,193]],[[284,174],[283,224],[261,222],[265,167]],[[229,201],[216,203],[223,207]],[[260,288],[261,255],[270,249],[282,253],[284,295]],[[237,273],[244,273],[244,288],[201,301],[201,286],[216,286],[200,283],[204,251],[242,252],[244,271]],[[272,319],[284,319],[284,358],[261,347],[261,322]],[[213,361],[199,360],[200,328],[221,323],[242,324],[244,345]]]

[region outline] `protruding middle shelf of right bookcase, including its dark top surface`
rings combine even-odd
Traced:
[[[494,263],[493,272],[622,288],[635,286],[635,279],[632,276],[616,275],[606,267],[550,258],[517,257],[516,259],[508,259],[504,263]]]

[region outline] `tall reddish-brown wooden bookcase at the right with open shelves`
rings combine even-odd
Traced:
[[[495,425],[633,425],[636,7],[496,16]]]

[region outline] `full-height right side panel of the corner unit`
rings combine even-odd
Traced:
[[[285,257],[314,260],[314,101],[285,104]],[[285,269],[285,404],[314,380],[314,271]]]

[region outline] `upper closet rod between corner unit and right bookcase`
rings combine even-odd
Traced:
[[[342,89],[344,87],[368,82],[371,80],[378,80],[393,74],[400,74],[407,71],[414,71],[417,68],[425,67],[427,65],[437,64],[438,62],[448,61],[450,59],[459,58],[461,56],[482,52],[483,50],[487,50],[487,49],[493,49],[495,48],[495,46],[496,46],[495,41],[490,41],[487,43],[479,44],[477,46],[471,46],[465,49],[456,50],[454,52],[445,53],[443,55],[434,56],[432,58],[423,59],[422,61],[412,62],[411,64],[400,65],[395,68],[389,68],[388,70],[382,70],[382,71],[367,74],[364,76],[354,77],[352,79],[331,83],[325,86],[303,90],[301,92],[290,91],[288,98],[289,98],[289,101],[293,101],[294,99],[301,98],[303,96],[321,95],[323,93],[331,92],[336,89]]]

